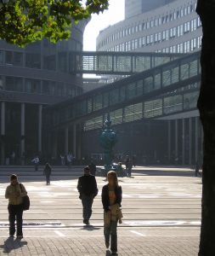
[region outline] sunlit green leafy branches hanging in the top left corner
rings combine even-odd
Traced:
[[[84,3],[82,3],[84,2]],[[108,0],[0,0],[0,38],[21,47],[70,38],[71,25],[108,8]]]

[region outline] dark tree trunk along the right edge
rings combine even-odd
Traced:
[[[215,255],[215,1],[198,0],[203,30],[201,90],[197,106],[204,131],[199,256]]]

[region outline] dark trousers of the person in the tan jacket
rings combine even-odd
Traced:
[[[8,205],[9,213],[9,236],[15,234],[15,220],[16,220],[16,236],[22,236],[22,205]]]

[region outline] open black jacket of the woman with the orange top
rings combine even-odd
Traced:
[[[115,189],[115,195],[116,195],[116,204],[118,204],[121,207],[121,202],[122,202],[122,187],[118,186]],[[105,210],[105,212],[109,211],[109,206],[110,206],[110,202],[109,202],[109,188],[108,188],[108,184],[106,184],[103,188],[102,188],[102,193],[101,193],[101,198],[102,198],[102,204],[103,204],[103,208]]]

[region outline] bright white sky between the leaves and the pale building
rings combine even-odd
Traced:
[[[92,15],[83,34],[83,50],[95,50],[99,31],[124,20],[125,0],[110,0],[109,9],[99,15]]]

